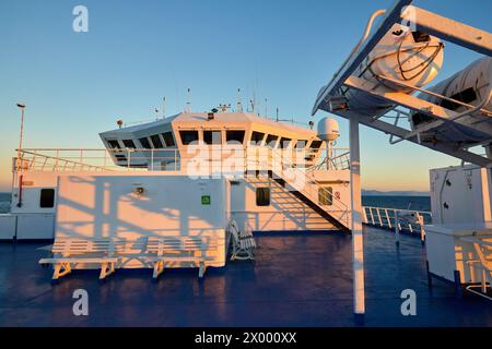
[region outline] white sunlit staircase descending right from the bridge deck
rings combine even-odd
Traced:
[[[321,217],[340,230],[350,231],[349,207],[335,195],[319,192],[318,189],[323,185],[314,179],[307,168],[298,167],[285,154],[281,149],[251,147],[246,152],[245,168],[268,171],[273,180],[289,189]],[[324,202],[330,202],[331,205],[320,205],[319,198],[323,198]]]

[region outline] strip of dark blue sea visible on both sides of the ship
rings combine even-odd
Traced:
[[[0,214],[10,210],[10,193],[0,193]],[[431,210],[431,197],[403,195],[362,195],[363,206]]]

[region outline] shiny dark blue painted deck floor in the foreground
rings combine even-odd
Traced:
[[[256,263],[196,270],[118,272],[105,284],[75,272],[52,287],[37,261],[40,244],[0,244],[1,326],[353,326],[351,238],[341,233],[261,236]],[[492,326],[492,303],[455,298],[452,286],[430,292],[425,249],[365,228],[366,326]],[[87,290],[89,316],[72,314],[72,292]],[[417,292],[417,316],[402,316],[400,292]]]

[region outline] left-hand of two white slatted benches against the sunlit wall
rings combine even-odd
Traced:
[[[112,239],[57,238],[52,244],[52,257],[39,260],[39,264],[52,264],[52,280],[70,274],[74,264],[99,264],[99,279],[115,273],[115,242]]]

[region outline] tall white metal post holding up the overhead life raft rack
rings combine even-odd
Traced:
[[[362,236],[361,156],[359,120],[350,119],[350,191],[352,197],[353,312],[365,313],[364,240]]]

